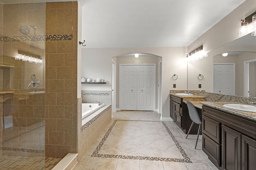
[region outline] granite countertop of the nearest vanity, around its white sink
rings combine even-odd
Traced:
[[[248,111],[239,111],[239,110],[232,110],[232,109],[226,109],[223,107],[224,104],[242,104],[238,102],[200,102],[202,105],[212,107],[214,109],[219,109],[221,111],[226,111],[228,113],[239,115],[241,117],[246,117],[248,119],[256,121],[256,113],[254,112],[248,112]]]

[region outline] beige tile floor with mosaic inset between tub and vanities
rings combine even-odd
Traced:
[[[218,170],[202,151],[153,111],[117,111],[73,170]]]

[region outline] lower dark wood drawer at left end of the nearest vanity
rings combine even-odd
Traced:
[[[204,133],[202,135],[202,150],[207,154],[212,163],[220,167],[220,145],[207,137]]]

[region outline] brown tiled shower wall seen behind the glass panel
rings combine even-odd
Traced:
[[[44,156],[44,94],[26,93],[31,90],[28,88],[31,74],[40,75],[40,88],[44,88],[44,64],[14,57],[22,50],[44,59],[44,38],[38,35],[44,35],[45,31],[45,4],[1,4],[0,11],[0,117],[5,117],[5,122],[2,118],[0,122],[4,141],[1,152],[3,155]],[[38,29],[25,36],[19,31],[22,25],[37,25]],[[11,125],[3,127],[6,121]]]

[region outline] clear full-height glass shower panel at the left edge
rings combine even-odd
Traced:
[[[45,9],[0,0],[0,169],[45,168]]]

